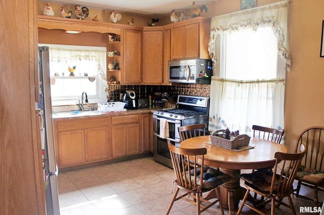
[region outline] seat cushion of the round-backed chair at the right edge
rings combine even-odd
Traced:
[[[296,179],[320,186],[324,185],[324,172],[319,172],[301,165],[296,174]]]

